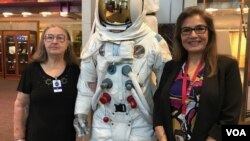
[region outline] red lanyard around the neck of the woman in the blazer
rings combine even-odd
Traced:
[[[183,81],[182,81],[182,91],[181,91],[181,97],[182,97],[182,114],[186,114],[186,110],[187,110],[187,103],[186,103],[186,100],[187,100],[187,96],[189,96],[190,94],[190,91],[193,87],[193,83],[195,82],[195,79],[202,67],[202,63],[203,61],[200,61],[199,65],[196,67],[195,69],[195,72],[194,72],[194,75],[191,79],[191,82],[189,83],[189,85],[187,86],[187,73],[188,73],[188,63],[185,64],[184,66],[184,76],[183,76]],[[188,87],[188,90],[189,92],[187,92],[187,87]]]

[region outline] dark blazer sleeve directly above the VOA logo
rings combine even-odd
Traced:
[[[222,105],[219,119],[209,131],[209,136],[212,136],[217,140],[221,140],[222,125],[238,123],[241,109],[241,99],[243,94],[237,61],[230,58],[223,58],[219,61],[221,62],[218,62],[218,75],[225,75],[224,80],[219,80],[223,81],[219,84],[223,83],[224,88],[221,88],[220,86],[219,89],[224,89],[224,94],[222,96]],[[224,66],[225,68],[220,68],[221,63],[223,63],[223,65],[221,66]]]

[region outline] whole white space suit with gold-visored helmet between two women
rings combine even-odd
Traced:
[[[86,115],[92,107],[92,141],[155,140],[151,74],[155,72],[159,81],[165,62],[171,59],[168,46],[143,23],[142,0],[118,5],[123,8],[118,14],[124,9],[126,13],[116,15],[118,22],[103,18],[106,14],[100,11],[113,12],[114,5],[107,2],[120,0],[96,1],[96,31],[81,54],[74,126],[79,136],[88,134]]]

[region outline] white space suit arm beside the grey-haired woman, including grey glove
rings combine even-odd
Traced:
[[[75,103],[74,127],[78,137],[89,134],[87,115],[91,108],[91,99],[96,88],[96,69],[94,60],[89,57],[81,61],[81,72],[78,79],[78,94]]]

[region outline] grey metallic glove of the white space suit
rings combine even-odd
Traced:
[[[89,127],[86,114],[76,114],[74,119],[74,127],[78,137],[84,137],[89,134]]]

